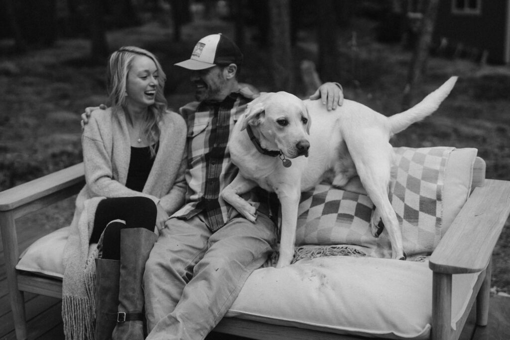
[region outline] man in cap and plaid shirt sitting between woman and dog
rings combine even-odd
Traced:
[[[233,41],[213,34],[198,41],[189,60],[175,64],[192,71],[197,102],[180,109],[188,127],[186,204],[166,222],[145,266],[147,339],[206,337],[276,242],[267,192],[243,196],[258,207],[254,224],[219,195],[238,172],[228,137],[258,96],[237,81],[242,62]],[[311,96],[319,98],[335,109],[343,102],[340,84],[321,85]]]

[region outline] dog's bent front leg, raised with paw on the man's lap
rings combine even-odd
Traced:
[[[239,195],[248,192],[257,185],[256,182],[250,181],[238,174],[236,178],[221,191],[223,200],[232,205],[241,215],[253,223],[257,221],[257,208],[249,204],[249,202]]]

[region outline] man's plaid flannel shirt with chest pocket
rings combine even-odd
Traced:
[[[188,189],[186,204],[172,217],[188,220],[203,211],[209,229],[214,232],[238,214],[219,196],[238,173],[227,142],[246,105],[258,95],[243,87],[222,102],[193,102],[180,109],[188,126]],[[253,191],[243,197],[258,201]]]

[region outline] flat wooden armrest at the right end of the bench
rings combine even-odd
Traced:
[[[486,180],[466,204],[430,256],[429,268],[443,274],[483,271],[510,213],[510,181]]]

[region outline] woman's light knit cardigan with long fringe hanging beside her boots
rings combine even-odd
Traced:
[[[125,187],[131,142],[122,109],[97,110],[82,135],[86,185],[78,194],[64,249],[62,319],[66,339],[93,339],[95,262],[89,245],[95,210],[110,197],[144,196],[171,215],[184,204],[186,123],[166,112],[159,124],[159,149],[142,192]]]

